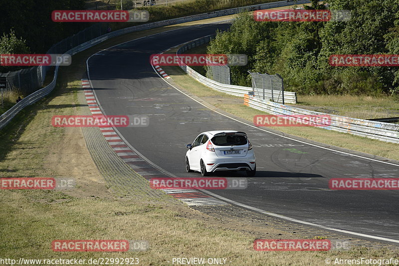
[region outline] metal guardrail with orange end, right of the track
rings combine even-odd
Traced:
[[[248,95],[244,96],[244,104],[273,115],[328,115],[331,117],[331,126],[325,125],[325,127],[323,127],[323,124],[319,124],[323,129],[351,133],[387,142],[399,143],[399,125],[396,124],[312,112],[309,110],[265,101]]]

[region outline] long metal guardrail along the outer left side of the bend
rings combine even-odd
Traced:
[[[297,0],[297,1],[285,0],[285,1],[270,2],[270,3],[255,4],[255,5],[231,8],[231,9],[226,9],[226,10],[220,10],[220,11],[208,12],[208,13],[203,13],[203,14],[198,14],[198,15],[185,16],[185,17],[180,17],[180,18],[173,18],[173,19],[168,19],[168,20],[162,20],[162,21],[142,24],[142,25],[128,27],[128,28],[116,30],[116,31],[113,31],[110,33],[106,33],[106,34],[101,35],[97,38],[94,38],[90,41],[82,43],[76,47],[73,47],[72,49],[65,51],[64,53],[74,55],[74,54],[81,52],[83,50],[86,50],[96,44],[106,41],[112,37],[116,37],[116,36],[123,35],[123,34],[130,33],[130,32],[152,29],[152,28],[173,25],[173,24],[179,24],[179,23],[184,23],[184,22],[189,22],[189,21],[196,21],[196,20],[201,20],[201,19],[206,19],[206,18],[212,18],[212,17],[224,16],[224,15],[230,15],[230,14],[237,14],[242,11],[253,11],[253,10],[259,10],[259,9],[267,9],[267,8],[272,8],[272,7],[280,7],[280,6],[309,3],[309,2],[310,2],[310,0]],[[2,114],[0,116],[0,129],[2,129],[5,125],[7,125],[11,121],[11,119],[14,118],[16,116],[16,114],[18,114],[19,111],[21,111],[24,107],[31,105],[31,104],[37,102],[38,100],[40,100],[41,98],[43,98],[44,96],[48,95],[55,87],[55,84],[57,81],[57,74],[58,74],[58,66],[55,67],[54,78],[49,85],[47,85],[46,87],[44,87],[38,91],[35,91],[34,93],[30,94],[27,97],[23,98],[22,101],[18,102],[13,107],[11,107],[9,110],[7,110],[4,114]]]

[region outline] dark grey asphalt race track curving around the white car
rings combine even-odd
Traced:
[[[255,150],[256,176],[248,179],[245,190],[212,190],[212,193],[302,221],[399,241],[398,190],[328,187],[333,177],[398,177],[399,165],[395,162],[310,145],[234,121],[171,87],[149,63],[151,54],[228,27],[227,23],[204,24],[173,30],[93,55],[88,60],[90,79],[105,114],[150,117],[149,127],[118,128],[119,132],[153,163],[179,177],[200,177],[199,173],[185,171],[185,146],[199,133],[246,132]],[[287,148],[306,153],[294,153]],[[245,176],[245,173],[214,176]]]

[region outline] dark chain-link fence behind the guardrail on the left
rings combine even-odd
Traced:
[[[47,51],[47,54],[63,54],[72,47],[76,47],[79,44],[94,39],[107,32],[108,23],[98,22],[84,30],[79,31],[75,35],[69,36],[68,38],[54,44]],[[21,94],[28,95],[37,91],[43,86],[46,74],[51,67],[52,66],[35,66],[31,68],[24,68],[18,71],[0,73],[0,77],[6,78],[7,91],[18,91]]]

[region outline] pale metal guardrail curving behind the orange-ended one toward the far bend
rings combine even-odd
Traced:
[[[208,35],[208,36],[190,41],[190,42],[184,44],[182,47],[180,47],[179,50],[176,52],[176,54],[181,54],[191,48],[194,48],[194,47],[200,46],[204,43],[207,43],[212,39],[212,37],[214,35],[215,34],[212,34],[212,35]],[[183,71],[185,71],[187,74],[189,74],[192,78],[196,79],[203,85],[206,85],[206,86],[208,86],[216,91],[219,91],[219,92],[224,92],[224,93],[234,95],[234,96],[244,96],[245,94],[248,93],[248,91],[253,90],[251,87],[243,87],[243,86],[236,86],[236,85],[223,84],[223,83],[216,82],[214,80],[211,80],[207,77],[202,76],[200,73],[198,73],[197,71],[195,71],[194,69],[192,69],[191,67],[187,66],[184,63],[182,63],[180,65],[180,67],[183,69]],[[265,90],[265,97],[272,99],[271,94],[272,94],[271,90]],[[284,91],[285,103],[296,104],[296,100],[297,100],[296,92]],[[280,98],[279,102],[281,102],[281,101],[282,101],[282,99]]]

